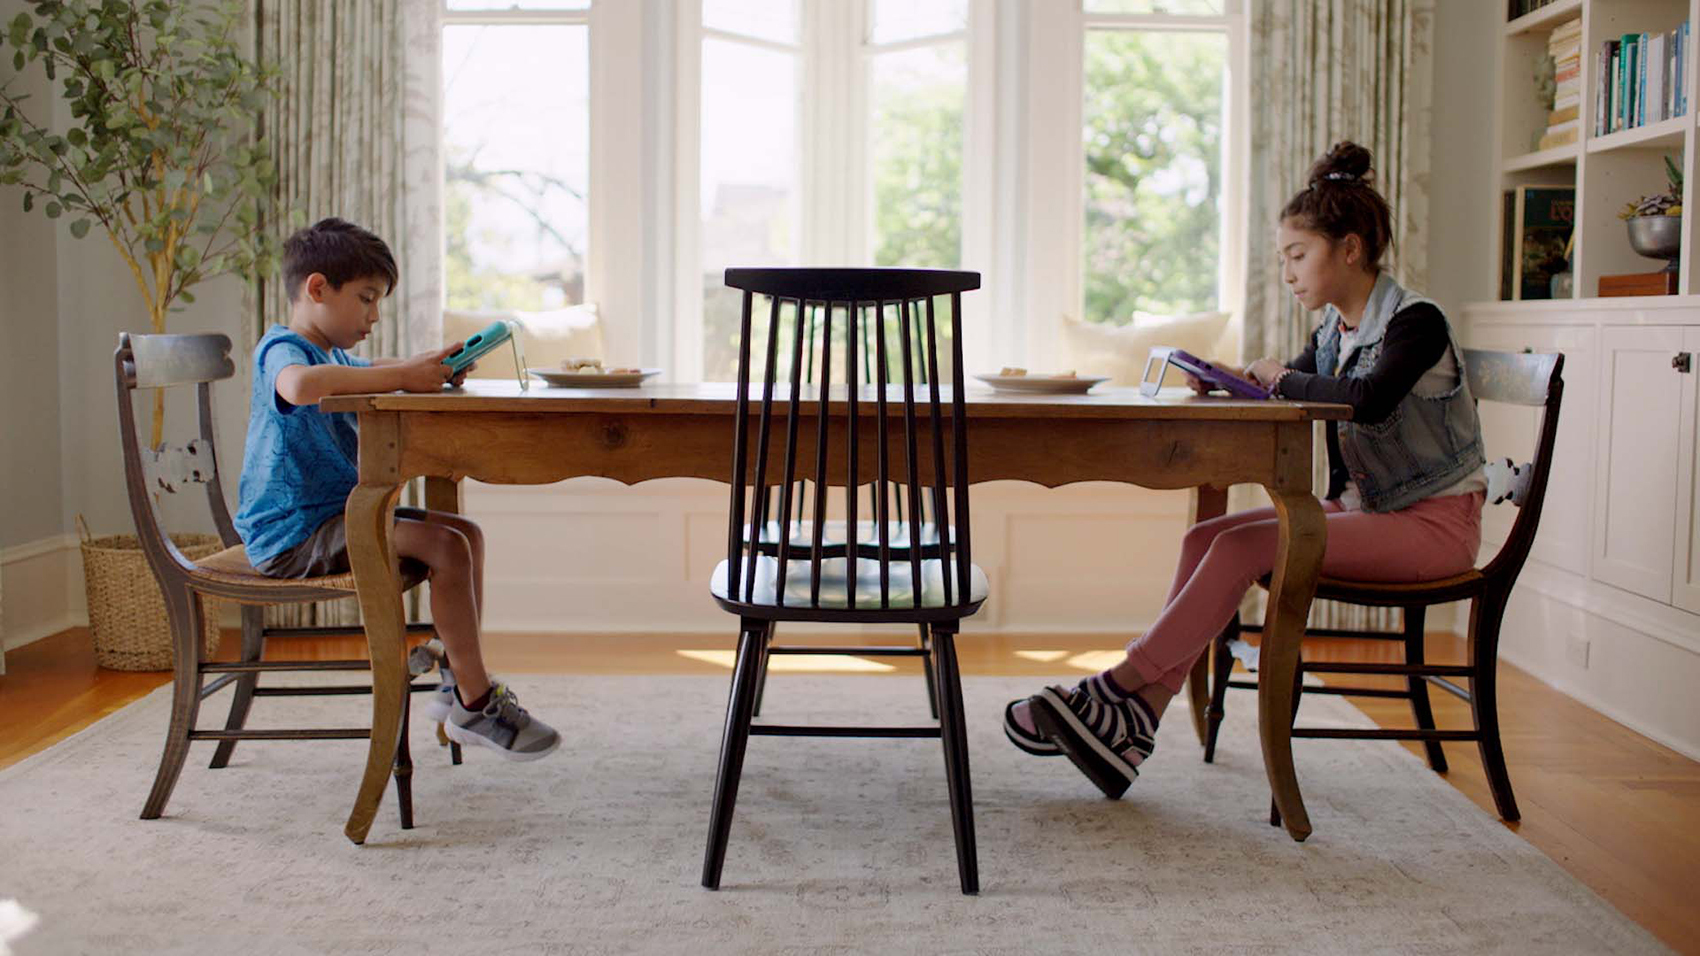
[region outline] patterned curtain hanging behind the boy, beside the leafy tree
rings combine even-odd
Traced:
[[[264,134],[277,156],[265,228],[342,216],[384,236],[401,281],[362,344],[410,356],[442,339],[442,167],[437,0],[253,0],[255,51],[282,71]],[[287,315],[267,276],[250,289],[248,350]],[[411,495],[410,495],[411,500]],[[274,607],[282,626],[352,624],[354,599]]]

